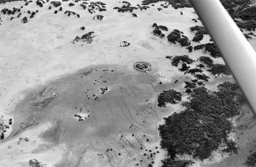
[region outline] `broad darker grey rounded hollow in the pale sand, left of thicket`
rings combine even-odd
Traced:
[[[66,145],[59,166],[147,165],[152,160],[141,148],[159,140],[164,114],[157,111],[157,84],[155,75],[122,66],[81,69],[28,92],[13,112],[11,136],[50,122],[42,137],[50,148]]]

